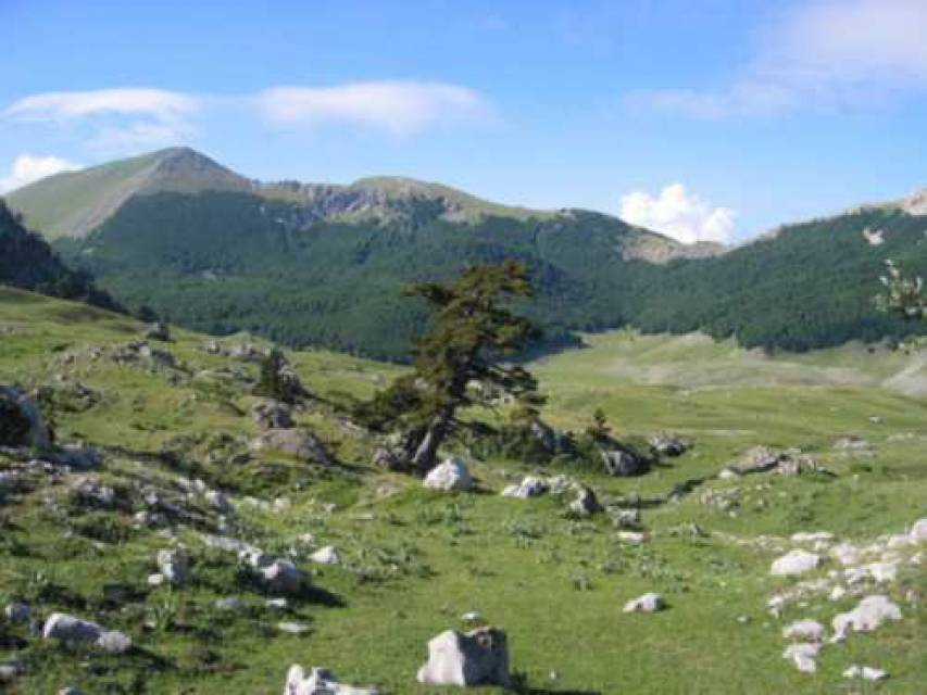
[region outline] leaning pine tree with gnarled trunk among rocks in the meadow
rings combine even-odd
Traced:
[[[527,270],[513,261],[472,267],[453,283],[428,282],[406,293],[431,304],[433,327],[416,343],[414,372],[377,394],[368,410],[379,414],[380,425],[404,430],[406,454],[424,476],[442,442],[467,427],[458,418],[461,409],[508,396],[537,416],[543,404],[537,381],[503,357],[538,338],[539,330],[503,306],[533,295]]]

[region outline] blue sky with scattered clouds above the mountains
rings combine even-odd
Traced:
[[[0,0],[0,188],[190,144],[686,241],[927,186],[924,0]]]

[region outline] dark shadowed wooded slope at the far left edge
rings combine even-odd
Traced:
[[[0,200],[0,285],[107,308],[117,304],[90,277],[68,268],[40,236],[29,232]]]

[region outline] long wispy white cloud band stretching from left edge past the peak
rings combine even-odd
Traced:
[[[216,113],[272,127],[340,126],[398,137],[496,118],[490,102],[474,89],[414,80],[272,87],[225,97],[142,88],[42,92],[13,102],[0,118],[58,128],[74,124],[83,144],[116,154],[189,142]]]

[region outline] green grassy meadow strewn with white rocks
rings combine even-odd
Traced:
[[[284,611],[268,608],[241,581],[234,556],[205,549],[190,528],[178,528],[176,541],[193,557],[195,580],[150,587],[152,558],[170,541],[163,531],[133,527],[137,502],[107,513],[75,509],[67,479],[36,480],[0,498],[0,603],[25,598],[39,616],[63,609],[96,619],[126,631],[141,648],[125,656],[75,650],[27,639],[24,627],[0,619],[0,662],[17,654],[25,666],[17,680],[0,683],[5,692],[76,685],[93,694],[278,693],[293,662],[325,665],[345,682],[376,683],[385,693],[454,692],[415,684],[415,671],[427,641],[463,628],[461,615],[473,610],[506,630],[513,669],[524,674],[525,692],[538,695],[925,692],[923,565],[905,564],[879,590],[899,603],[903,619],[825,647],[814,674],[781,658],[782,627],[815,618],[829,628],[857,598],[813,596],[778,618],[766,609],[772,595],[794,585],[769,576],[772,560],[792,547],[791,533],[826,530],[865,543],[927,517],[927,401],[904,395],[917,393],[911,384],[923,378],[916,355],[849,345],[764,357],[699,337],[614,332],[538,362],[552,425],[581,429],[601,407],[619,438],[671,431],[693,442],[684,456],[637,478],[563,471],[600,497],[641,496],[648,541],[634,546],[605,515],[572,520],[550,498],[499,496],[534,472],[521,462],[474,460],[461,452],[479,492],[456,495],[371,467],[375,442],[343,421],[343,408],[398,368],[343,355],[289,355],[317,396],[299,413],[300,424],[338,465],[238,460],[234,454],[256,426],[247,415],[253,397],[236,371],[254,376],[256,367],[206,354],[204,337],[183,331],[164,345],[178,368],[91,356],[95,348],[134,340],[139,328],[82,305],[0,289],[0,383],[51,384],[65,395],[68,384],[85,384],[92,404],[60,409],[57,429],[59,440],[87,441],[105,454],[96,473],[102,481],[127,498],[134,485],[168,485],[180,475],[226,490],[237,509],[231,532],[268,552],[291,553],[313,571],[315,590]],[[835,450],[851,435],[870,443],[868,455]],[[677,502],[647,504],[757,444],[801,447],[836,476],[705,480]],[[10,465],[0,456],[0,469]],[[712,491],[738,495],[738,504],[703,503]],[[248,496],[268,504],[246,504]],[[693,523],[703,533],[690,532]],[[313,566],[306,533],[315,545],[336,545],[341,565]],[[663,594],[664,611],[622,612],[626,601],[648,591]],[[230,595],[245,607],[214,607]],[[284,634],[280,620],[310,630]],[[25,642],[16,650],[18,640]],[[884,668],[890,678],[845,681],[841,672],[854,662]]]

